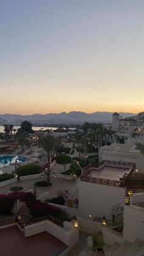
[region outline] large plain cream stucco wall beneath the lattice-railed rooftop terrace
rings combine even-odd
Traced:
[[[99,185],[79,181],[79,216],[112,219],[110,215],[113,205],[121,203],[124,205],[125,188]]]

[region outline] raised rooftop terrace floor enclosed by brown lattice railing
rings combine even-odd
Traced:
[[[129,168],[104,166],[99,170],[91,170],[92,177],[106,178],[109,180],[120,180],[124,172],[128,173]]]

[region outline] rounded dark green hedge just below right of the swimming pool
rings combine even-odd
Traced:
[[[16,169],[16,174],[19,174],[20,176],[40,174],[40,172],[41,166],[38,164],[26,164]]]

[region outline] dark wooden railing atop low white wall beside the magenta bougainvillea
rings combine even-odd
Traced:
[[[24,227],[26,227],[27,225],[32,225],[32,224],[35,224],[41,221],[46,221],[46,220],[51,221],[54,224],[59,225],[60,227],[63,228],[63,222],[57,218],[54,218],[51,215],[43,216],[37,219],[32,219],[31,221],[23,221],[21,219],[16,218],[16,222],[18,222],[18,224],[21,226],[22,229],[24,229]]]

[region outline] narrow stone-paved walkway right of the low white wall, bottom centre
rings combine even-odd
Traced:
[[[87,237],[89,236],[88,233],[79,232],[79,243],[73,247],[73,249],[65,254],[65,256],[77,256],[80,254],[85,247],[87,247]]]

